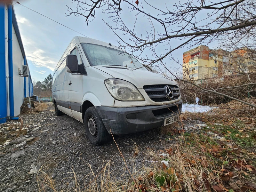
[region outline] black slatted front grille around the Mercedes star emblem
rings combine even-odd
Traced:
[[[170,98],[166,95],[165,88],[166,86],[170,86],[173,92],[173,97]],[[163,101],[170,101],[176,100],[180,97],[180,88],[176,85],[144,85],[144,90],[148,94],[148,97],[155,102],[163,102]]]

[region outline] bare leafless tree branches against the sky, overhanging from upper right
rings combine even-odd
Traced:
[[[97,12],[103,12],[109,19],[103,19],[106,25],[119,37],[119,47],[126,52],[136,52],[137,59],[144,64],[165,68],[166,78],[176,78],[191,83],[202,91],[238,100],[256,107],[252,103],[241,101],[214,89],[205,89],[170,70],[165,59],[171,59],[182,66],[172,52],[183,47],[208,44],[222,40],[225,46],[246,45],[255,50],[256,1],[255,0],[188,0],[185,3],[147,0],[72,0],[75,7],[68,6],[67,16],[85,18],[87,24]],[[134,21],[126,19],[127,12],[132,12]],[[143,22],[145,30],[138,27]],[[174,43],[173,43],[174,42]],[[161,50],[161,51],[159,51]],[[150,54],[147,54],[150,52]],[[189,74],[188,68],[185,69]],[[251,82],[252,85],[256,84]]]

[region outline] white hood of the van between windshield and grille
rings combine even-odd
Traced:
[[[118,68],[108,68],[104,66],[92,66],[97,68],[109,75],[113,76],[114,78],[123,79],[134,84],[137,88],[143,88],[144,85],[154,85],[154,84],[172,84],[178,85],[175,81],[168,80],[163,76],[152,73],[150,71],[142,70],[142,69],[135,69],[129,70],[127,68],[122,68],[117,66]],[[111,66],[112,67],[112,66]],[[114,66],[113,66],[114,67]]]

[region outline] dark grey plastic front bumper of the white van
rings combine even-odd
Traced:
[[[164,119],[181,113],[182,100],[169,105],[139,107],[96,107],[110,133],[126,135],[164,125]]]

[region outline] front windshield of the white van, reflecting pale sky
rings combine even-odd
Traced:
[[[111,65],[147,70],[134,56],[126,52],[96,44],[83,43],[82,47],[91,66]]]

